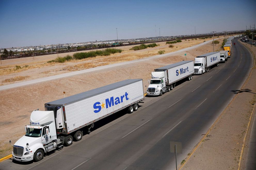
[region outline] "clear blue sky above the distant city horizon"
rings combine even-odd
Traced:
[[[0,0],[0,48],[114,40],[116,28],[118,39],[159,36],[159,28],[161,36],[194,34],[195,27],[245,30],[256,23],[255,6],[254,0]]]

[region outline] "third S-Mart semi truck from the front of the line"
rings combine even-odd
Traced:
[[[213,65],[219,66],[220,52],[209,52],[197,56],[194,62],[194,74],[203,74],[208,72]]]

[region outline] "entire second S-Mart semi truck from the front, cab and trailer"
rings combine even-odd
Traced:
[[[162,96],[175,87],[176,82],[183,78],[192,79],[194,74],[193,61],[180,61],[168,66],[160,67],[151,73],[151,79],[148,80],[148,96]]]

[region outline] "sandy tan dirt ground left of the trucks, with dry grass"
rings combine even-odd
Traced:
[[[199,43],[203,41],[204,40],[198,40]],[[220,42],[221,41],[222,40],[220,40]],[[139,50],[139,53],[142,53],[142,57],[148,57],[147,54],[150,54],[151,56],[156,55],[159,49],[165,49],[166,52],[168,50],[177,51],[181,48],[190,47],[192,46],[191,44],[194,43],[192,43],[191,41],[184,41],[180,44],[177,43],[177,45],[175,44],[174,46],[177,46],[178,48],[175,49],[168,49],[168,45],[160,44],[160,46],[155,48]],[[116,55],[133,55],[133,53],[136,53],[136,51],[128,50],[131,48],[131,46],[122,48],[126,50],[128,54],[122,53]],[[37,83],[29,86],[23,86],[1,91],[0,157],[4,157],[6,155],[11,154],[12,147],[9,144],[9,140],[15,142],[22,135],[24,135],[24,126],[26,124],[29,124],[31,112],[37,108],[39,108],[39,110],[44,110],[44,103],[63,98],[63,91],[66,92],[66,96],[71,96],[104,85],[115,83],[124,79],[135,78],[142,78],[143,84],[147,85],[147,80],[151,77],[151,71],[155,68],[185,60],[186,58],[184,56],[184,53],[187,53],[187,60],[194,60],[197,54],[200,55],[203,53],[210,52],[212,48],[212,44],[208,43],[192,50],[175,53],[174,55],[170,55],[168,57],[150,59],[146,62],[137,62],[136,64],[127,64],[125,66],[102,69],[96,72],[79,74],[73,77],[56,79],[48,82]],[[215,47],[215,49],[218,48],[220,48],[220,44],[217,47]],[[33,58],[11,59],[8,61],[3,60],[3,66],[1,66],[0,69],[8,68],[10,67],[10,65],[15,66],[21,64],[41,64],[45,61],[52,60],[55,57],[57,56],[50,55],[36,57],[36,61],[34,61]],[[115,55],[108,57],[115,57]],[[67,67],[67,65],[74,66],[77,65],[77,62],[90,63],[95,62],[95,60],[99,62],[106,58],[107,57],[95,57],[89,60],[72,61],[64,64],[55,64],[53,66],[28,69],[17,73],[3,75],[0,77],[0,80],[3,81],[7,78],[11,78],[14,76],[30,76],[29,79],[35,79],[55,74],[61,74],[68,71],[63,70],[63,68]],[[146,87],[144,87],[144,91],[146,91]]]

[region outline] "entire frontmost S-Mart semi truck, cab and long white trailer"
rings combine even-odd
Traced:
[[[26,134],[13,145],[13,159],[39,161],[45,153],[81,140],[83,129],[90,132],[94,122],[122,109],[138,110],[142,100],[142,79],[127,79],[45,103],[45,111],[31,113]]]

